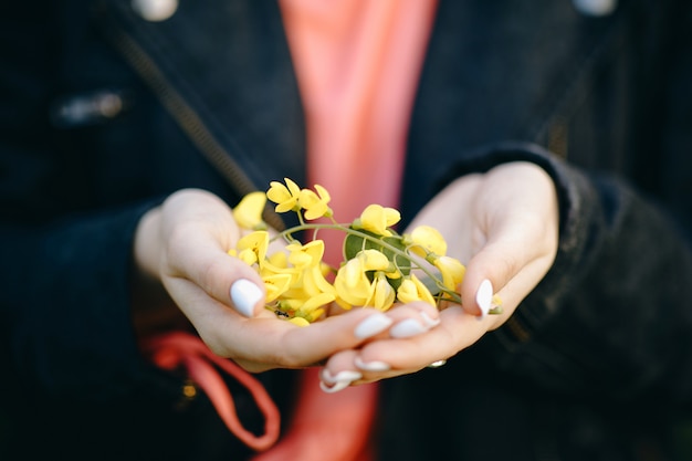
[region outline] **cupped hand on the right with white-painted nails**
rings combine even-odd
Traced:
[[[462,306],[440,312],[440,325],[411,338],[373,340],[332,356],[322,374],[325,388],[417,371],[447,359],[501,326],[536,286],[557,252],[559,216],[553,180],[527,163],[501,165],[483,175],[459,178],[442,190],[411,223],[438,229],[448,254],[466,263],[460,287]],[[486,315],[493,294],[503,313]],[[400,307],[396,307],[396,311]],[[342,375],[339,375],[339,373]]]

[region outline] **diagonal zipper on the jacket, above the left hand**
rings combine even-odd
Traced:
[[[176,119],[178,125],[188,135],[199,151],[214,166],[214,168],[226,178],[226,180],[240,193],[244,196],[258,190],[255,185],[242,171],[238,164],[216,137],[209,132],[207,126],[185,101],[182,96],[168,82],[164,73],[154,63],[154,60],[122,30],[109,27],[107,31],[115,48],[124,55],[135,72],[149,85],[151,91]],[[264,221],[272,228],[282,231],[285,223],[279,214],[269,206],[263,213]]]

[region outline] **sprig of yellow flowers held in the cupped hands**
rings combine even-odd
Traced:
[[[266,199],[275,211],[295,212],[298,226],[271,237],[262,220]],[[394,208],[369,205],[359,218],[339,223],[329,208],[329,192],[315,185],[301,189],[294,181],[272,181],[264,192],[251,192],[233,209],[238,224],[247,230],[229,254],[255,268],[266,287],[266,307],[296,325],[308,325],[336,303],[345,310],[354,306],[387,311],[396,303],[424,301],[434,306],[444,302],[461,304],[457,287],[465,266],[445,255],[447,242],[429,226],[399,234],[392,227],[400,213]],[[326,218],[329,222],[314,222]],[[313,222],[310,222],[313,221]],[[319,229],[344,232],[344,260],[338,268],[323,261],[324,241]],[[295,234],[313,231],[302,242]],[[285,251],[268,254],[270,243],[285,241]],[[491,313],[500,313],[500,301]]]

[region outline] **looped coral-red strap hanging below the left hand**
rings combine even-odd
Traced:
[[[160,368],[172,370],[180,365],[185,366],[189,378],[207,394],[229,430],[248,447],[262,451],[276,442],[280,413],[264,386],[233,362],[213,354],[198,336],[182,332],[166,333],[145,339],[140,347]],[[263,434],[255,436],[242,426],[235,413],[233,398],[217,367],[250,391],[264,415]]]

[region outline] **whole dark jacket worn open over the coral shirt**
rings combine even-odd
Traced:
[[[502,328],[384,383],[379,459],[675,454],[692,399],[686,3],[589,17],[567,0],[440,1],[403,223],[447,181],[527,160],[557,184],[559,251]],[[180,188],[233,205],[304,184],[304,150],[273,1],[180,0],[161,22],[125,0],[0,7],[2,459],[247,458],[203,395],[141,358],[133,233]],[[261,375],[284,409],[292,376]]]

